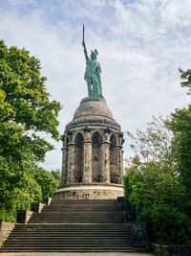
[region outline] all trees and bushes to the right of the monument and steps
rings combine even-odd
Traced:
[[[190,90],[191,70],[180,73]],[[135,154],[124,176],[125,198],[138,221],[148,221],[153,242],[191,244],[191,106],[128,135]]]

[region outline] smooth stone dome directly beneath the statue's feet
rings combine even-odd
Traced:
[[[113,114],[107,106],[106,101],[96,98],[85,98],[74,112],[74,119],[79,117],[100,116],[113,120]]]

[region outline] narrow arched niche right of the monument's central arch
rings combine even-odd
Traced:
[[[110,138],[110,182],[117,182],[117,138],[113,134]]]

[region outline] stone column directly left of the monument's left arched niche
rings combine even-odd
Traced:
[[[68,146],[68,175],[67,184],[74,183],[74,144],[69,144]]]

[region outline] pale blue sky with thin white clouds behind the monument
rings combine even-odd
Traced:
[[[0,0],[0,39],[41,61],[52,100],[63,105],[59,131],[87,96],[82,24],[87,50],[98,50],[102,90],[125,136],[152,116],[189,103],[179,67],[191,68],[190,0]],[[47,138],[51,141],[50,137]],[[51,141],[42,164],[61,168],[61,142]]]

